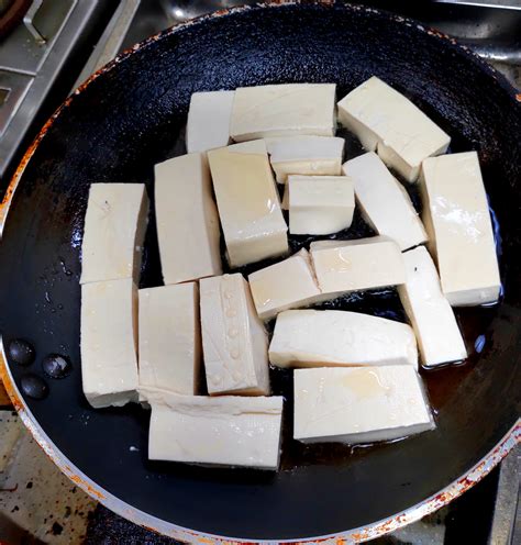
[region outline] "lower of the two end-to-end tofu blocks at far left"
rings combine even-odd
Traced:
[[[93,408],[137,401],[137,289],[132,278],[81,286],[81,378]]]

